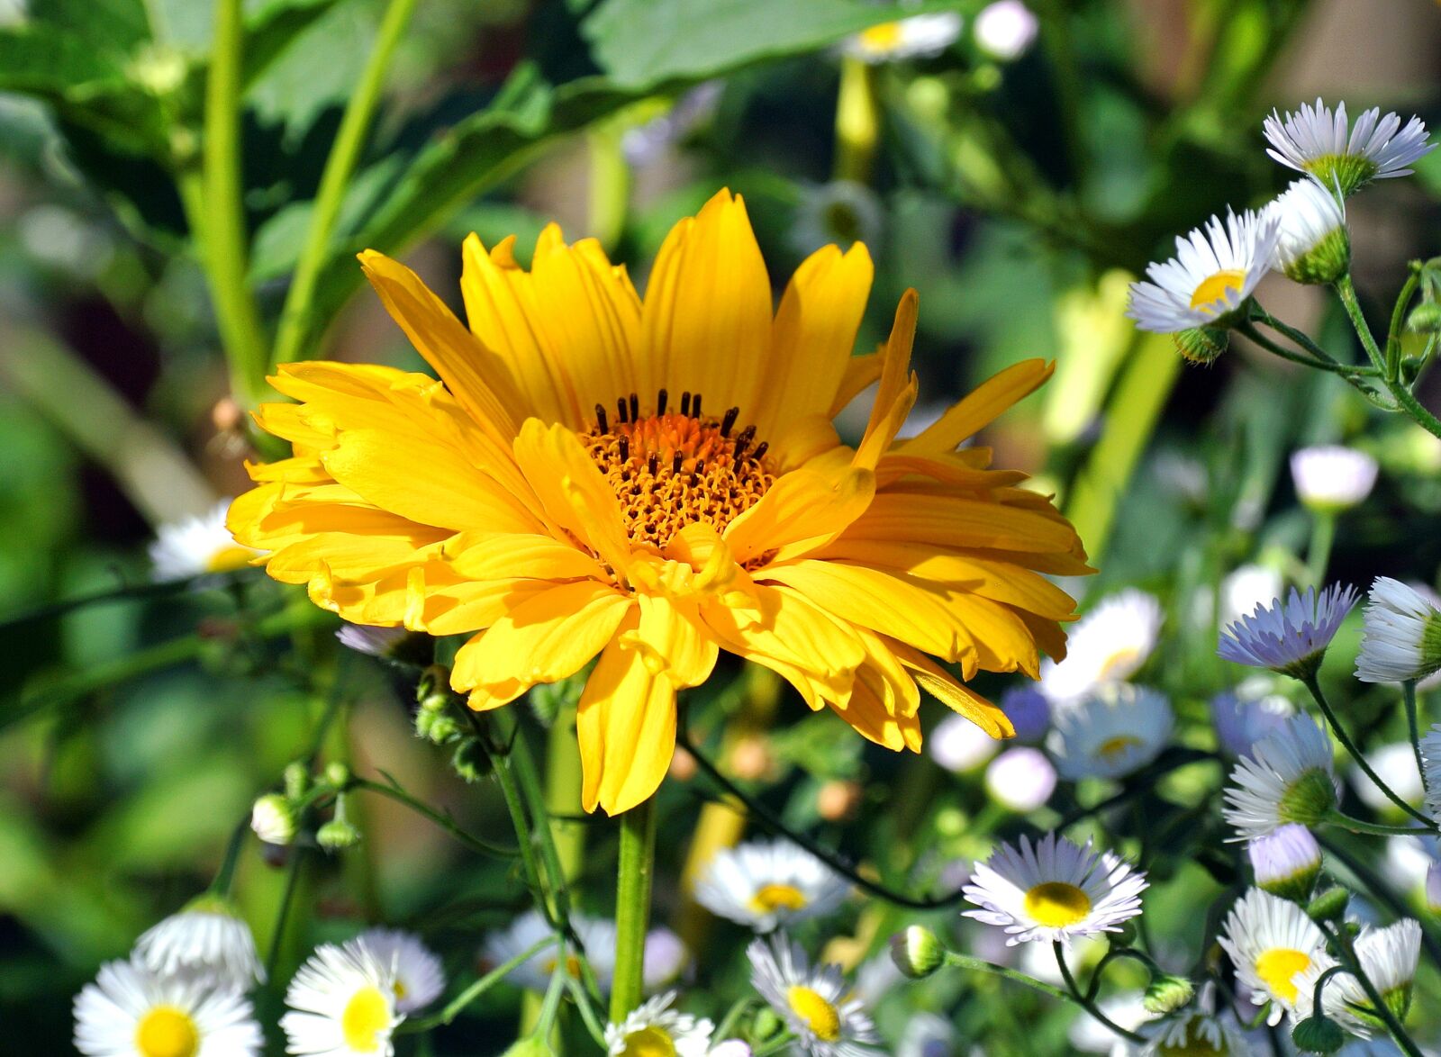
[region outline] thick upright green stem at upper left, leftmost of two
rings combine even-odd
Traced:
[[[216,0],[215,49],[205,85],[205,259],[231,387],[246,408],[265,393],[265,336],[246,285],[241,189],[241,0]]]

